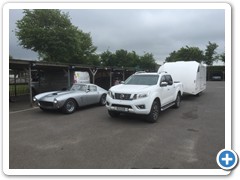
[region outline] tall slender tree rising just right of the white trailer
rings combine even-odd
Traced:
[[[204,56],[204,63],[207,65],[212,65],[214,61],[217,60],[218,55],[216,52],[216,49],[218,48],[218,45],[216,43],[208,42],[208,45],[205,50],[205,56]]]

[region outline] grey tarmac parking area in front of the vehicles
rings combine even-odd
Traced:
[[[184,96],[179,109],[167,109],[153,124],[136,115],[111,118],[103,106],[70,115],[10,107],[9,168],[218,169],[224,99],[225,83],[207,82],[204,93]]]

